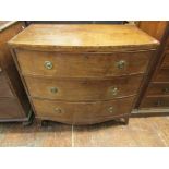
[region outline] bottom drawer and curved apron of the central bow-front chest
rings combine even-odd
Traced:
[[[33,99],[36,117],[65,123],[89,123],[95,119],[113,119],[116,116],[130,113],[134,97],[110,101],[65,102]]]

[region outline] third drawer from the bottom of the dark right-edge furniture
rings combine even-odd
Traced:
[[[153,76],[154,82],[169,82],[169,69],[160,69]]]

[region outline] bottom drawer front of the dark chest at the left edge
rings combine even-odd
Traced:
[[[0,98],[0,119],[23,118],[16,99]]]

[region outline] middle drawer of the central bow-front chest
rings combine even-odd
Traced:
[[[142,75],[112,80],[49,80],[25,77],[32,97],[62,100],[109,100],[135,95]]]

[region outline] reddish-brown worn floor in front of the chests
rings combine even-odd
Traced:
[[[0,146],[112,147],[169,146],[169,117],[131,118],[129,125],[113,121],[89,126],[49,123],[31,126],[0,124]]]

